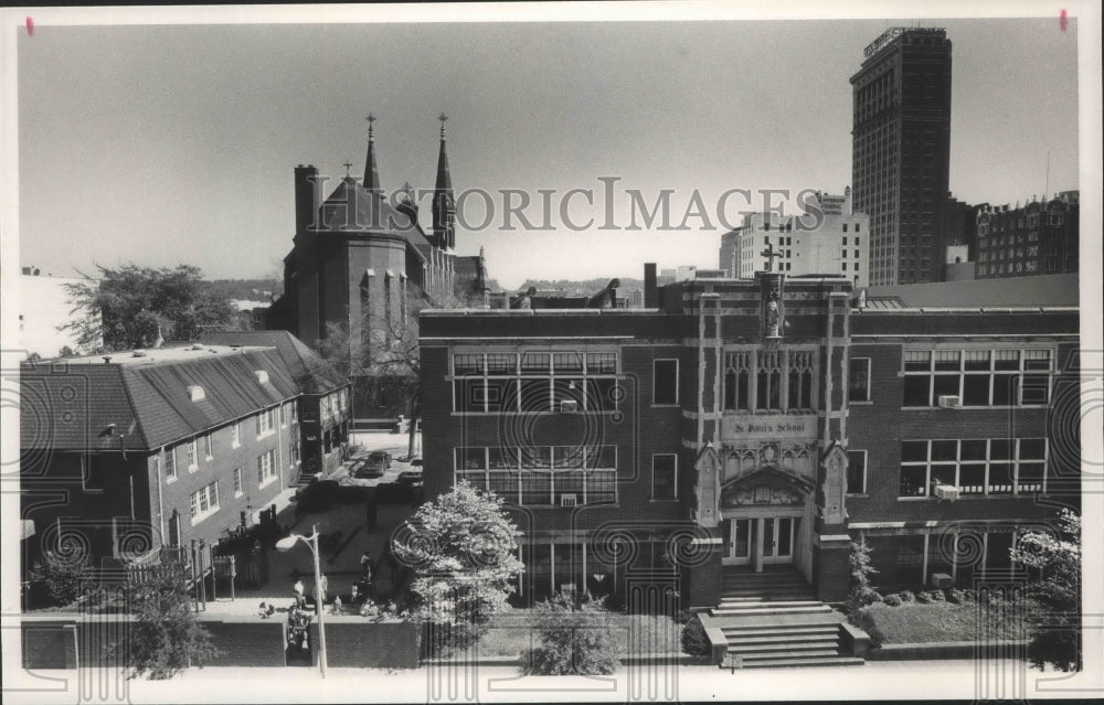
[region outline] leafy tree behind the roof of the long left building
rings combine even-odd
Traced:
[[[234,307],[211,290],[191,265],[155,269],[135,264],[103,267],[99,279],[67,284],[72,321],[59,327],[76,335],[82,348],[127,350],[166,341],[191,341],[204,328],[229,325]]]

